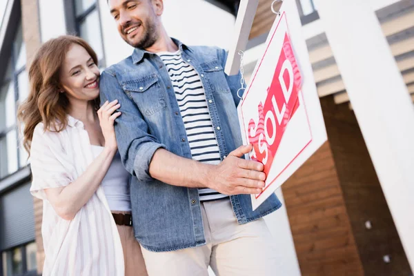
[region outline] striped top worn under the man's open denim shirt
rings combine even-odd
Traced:
[[[197,71],[182,59],[179,50],[159,52],[157,55],[164,61],[170,75],[193,159],[207,164],[219,164],[219,146]],[[228,197],[209,188],[200,188],[199,196],[201,201]]]

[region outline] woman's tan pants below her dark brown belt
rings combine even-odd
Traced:
[[[112,211],[112,213],[127,212]],[[135,239],[134,229],[131,226],[117,225],[119,237],[121,237],[122,249],[124,250],[125,275],[126,276],[148,276],[141,247]]]

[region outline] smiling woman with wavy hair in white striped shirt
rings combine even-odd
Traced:
[[[43,199],[43,275],[147,275],[117,153],[117,101],[99,108],[97,55],[62,36],[41,46],[19,108],[30,192]],[[116,222],[115,222],[116,221]]]

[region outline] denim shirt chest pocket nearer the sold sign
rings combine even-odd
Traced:
[[[224,68],[217,59],[201,63],[204,73],[213,92],[230,93]]]

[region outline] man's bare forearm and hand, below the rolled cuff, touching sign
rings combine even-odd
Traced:
[[[252,146],[240,146],[219,165],[202,164],[159,149],[150,163],[150,175],[165,183],[191,188],[212,188],[225,195],[262,192],[266,175],[263,164],[241,159]]]

